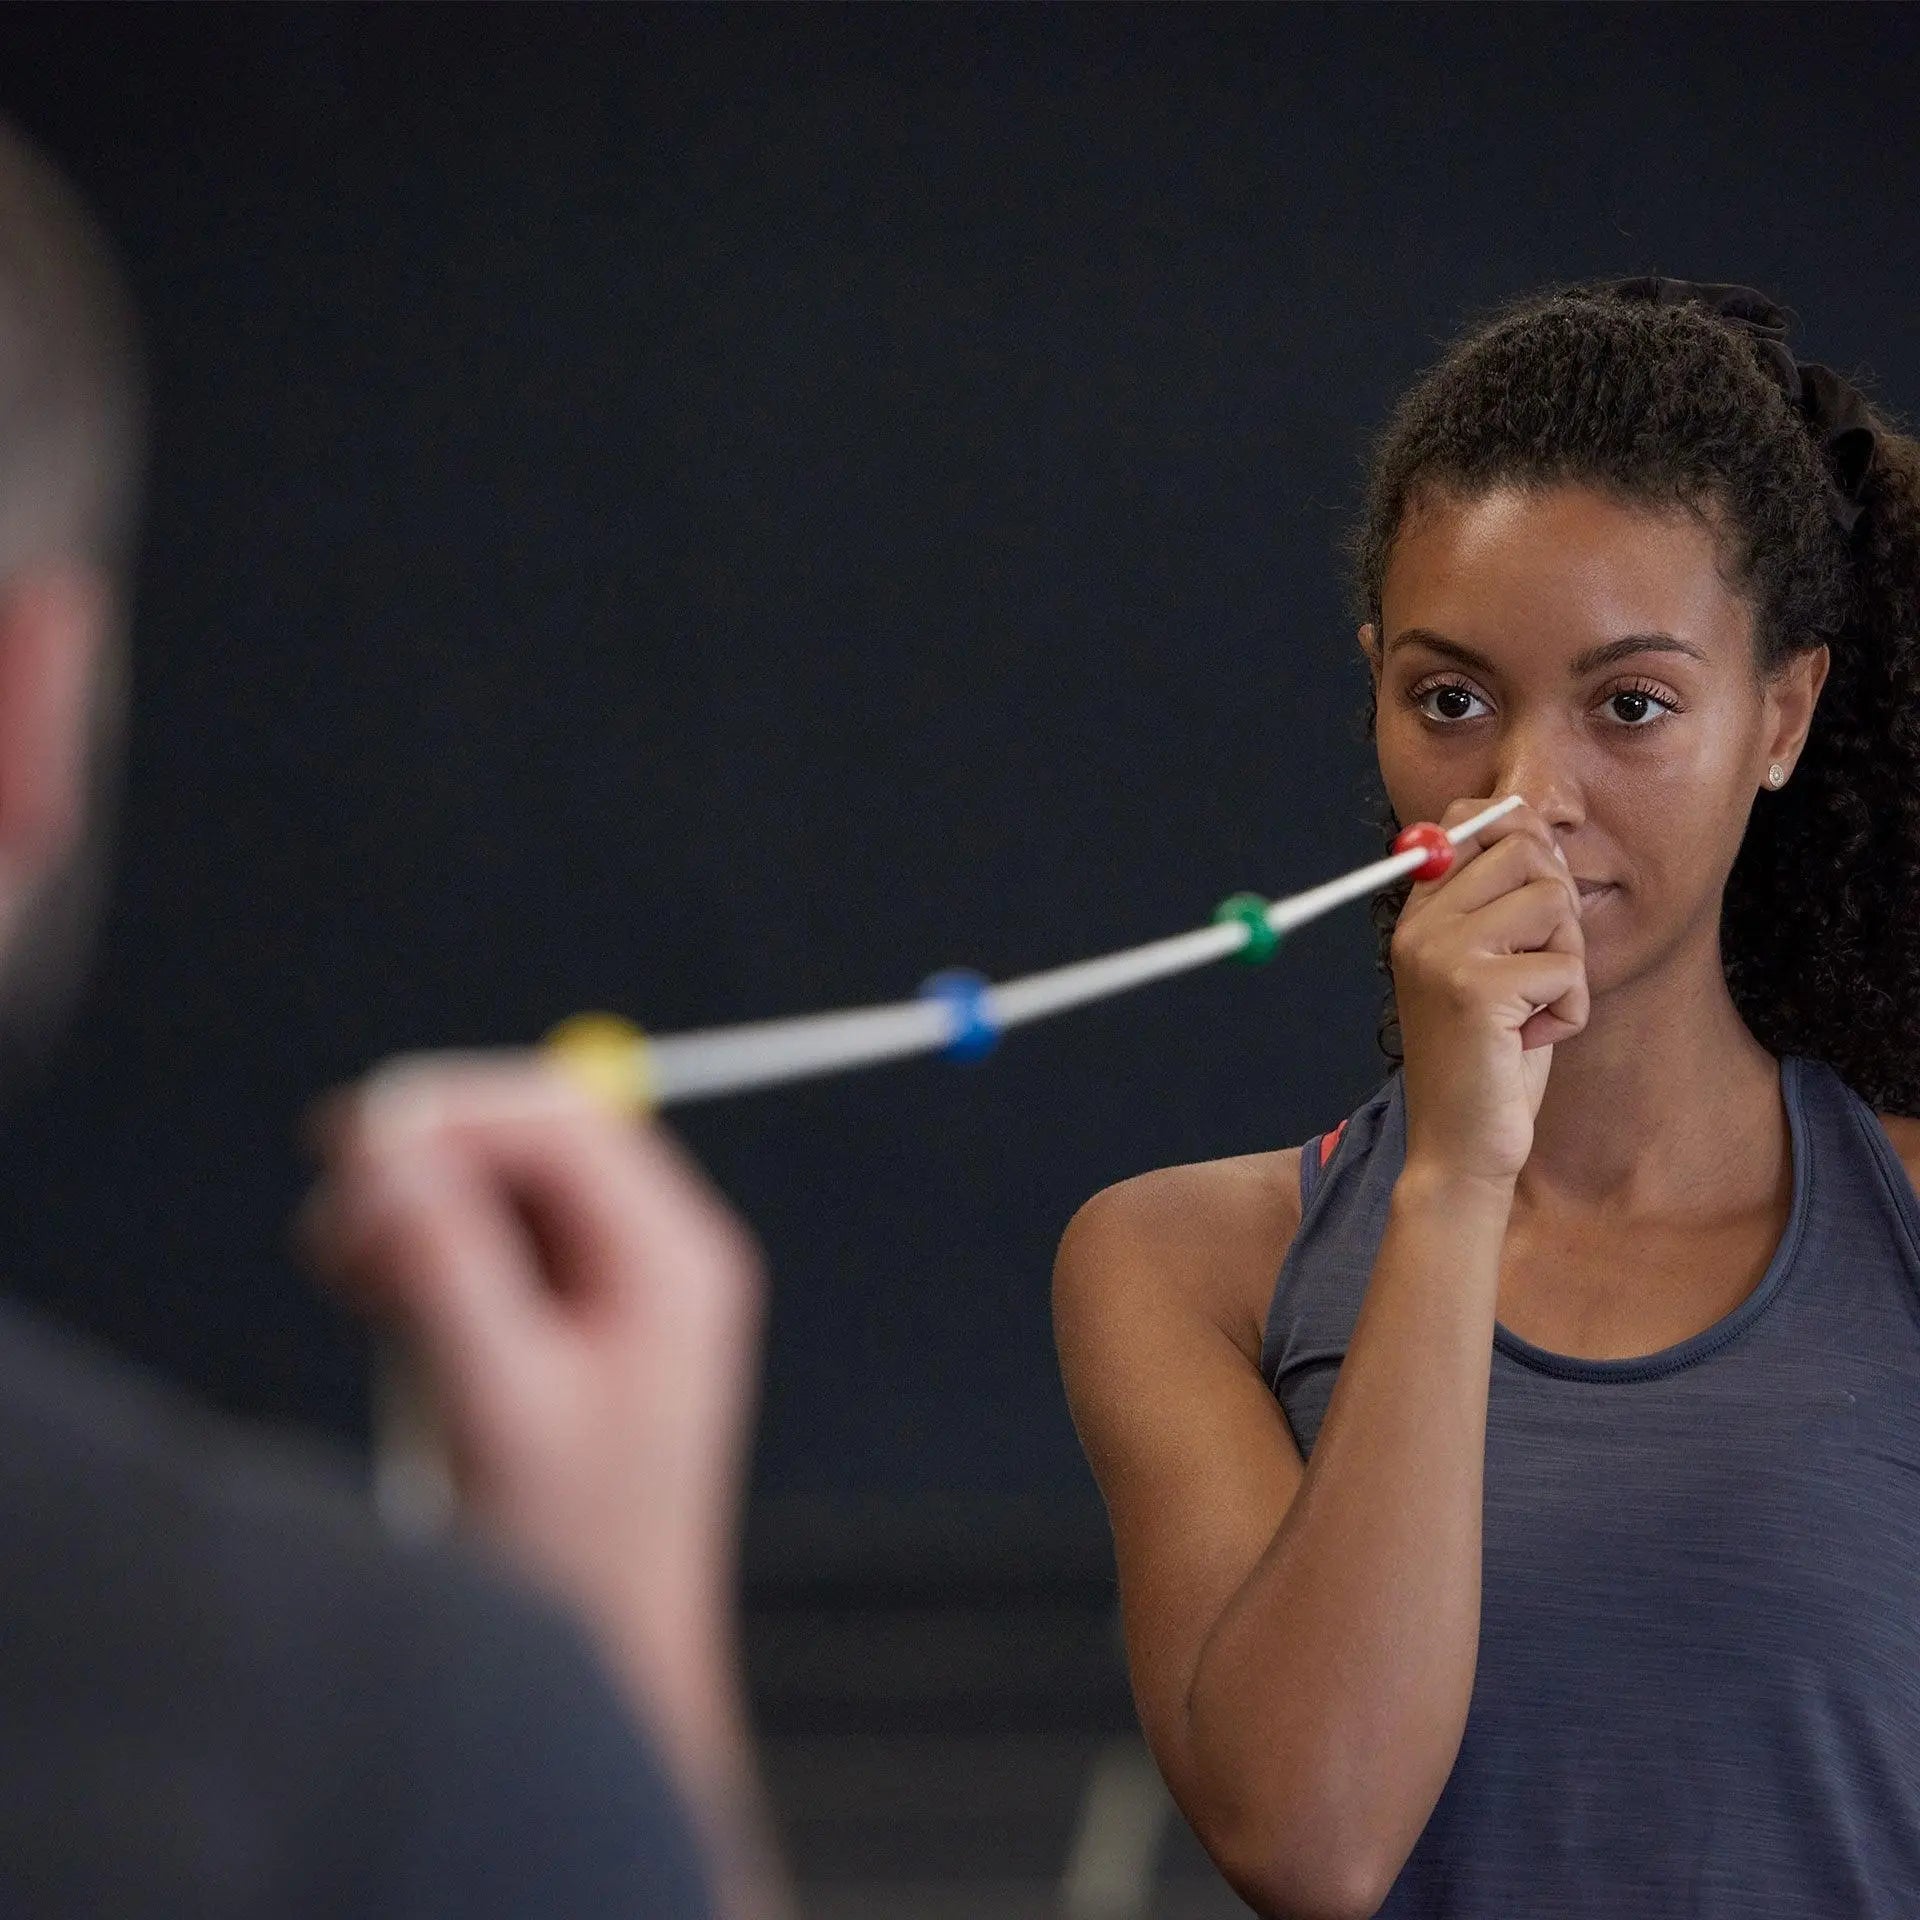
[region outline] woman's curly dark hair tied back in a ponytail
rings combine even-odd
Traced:
[[[1377,624],[1423,488],[1574,482],[1703,515],[1753,607],[1757,678],[1832,649],[1793,780],[1757,795],[1728,876],[1728,991],[1770,1052],[1824,1060],[1872,1106],[1920,1114],[1920,444],[1878,411],[1874,428],[1847,536],[1828,459],[1749,330],[1703,303],[1555,288],[1469,330],[1400,401],[1350,559]],[[1375,724],[1369,685],[1369,741]],[[1400,831],[1384,793],[1379,824]],[[1373,899],[1377,1039],[1396,1069],[1390,941],[1409,885]]]

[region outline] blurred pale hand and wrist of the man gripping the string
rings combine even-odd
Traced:
[[[301,1250],[399,1329],[463,1509],[586,1617],[735,1851],[755,1797],[735,1634],[753,1236],[662,1129],[536,1056],[397,1062],[309,1133]]]

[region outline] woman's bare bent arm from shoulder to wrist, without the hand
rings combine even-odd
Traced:
[[[1298,1227],[1248,1162],[1096,1194],[1054,1317],[1108,1501],[1135,1697],[1167,1786],[1235,1887],[1369,1914],[1459,1749],[1480,1615],[1480,1476],[1511,1190],[1402,1173],[1302,1469],[1258,1311]]]

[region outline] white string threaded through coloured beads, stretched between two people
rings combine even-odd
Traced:
[[[1448,828],[1446,837],[1457,847],[1519,804],[1523,804],[1521,795],[1509,793],[1457,828]],[[1411,874],[1425,858],[1427,851],[1413,847],[1319,887],[1308,887],[1306,893],[1288,895],[1267,908],[1267,925],[1275,933],[1290,933],[1348,900],[1390,885],[1402,874]],[[981,996],[981,1010],[995,1029],[1020,1027],[1144,987],[1154,979],[1225,960],[1252,937],[1252,927],[1240,920],[1175,933],[1146,947],[1102,954],[1098,960],[1077,960],[1044,973],[1002,981]],[[778,1087],[783,1081],[902,1060],[908,1054],[933,1054],[948,1044],[952,1027],[952,1010],[941,1000],[902,1000],[895,1006],[858,1006],[839,1014],[804,1014],[799,1020],[764,1020],[745,1027],[708,1027],[649,1041],[647,1071],[657,1106],[710,1100],[749,1087]]]

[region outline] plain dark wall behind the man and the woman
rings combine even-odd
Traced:
[[[282,1250],[330,1081],[1373,856],[1334,545],[1394,392],[1655,269],[1920,396],[1916,54],[1903,8],[8,10],[157,432],[119,887],[6,1283],[353,1432]],[[768,1507],[1094,1538],[1062,1225],[1334,1121],[1375,1010],[1356,908],[981,1069],[689,1112],[778,1267]]]

